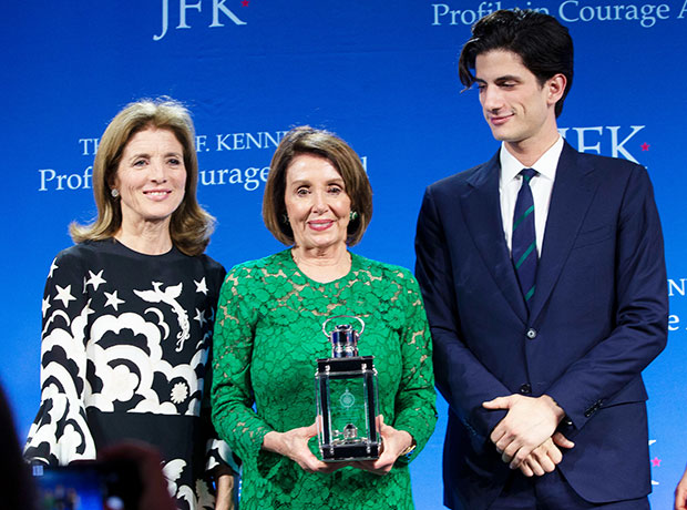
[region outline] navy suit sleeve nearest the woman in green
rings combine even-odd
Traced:
[[[511,391],[462,338],[449,243],[431,188],[424,194],[418,217],[416,255],[416,277],[434,343],[437,387],[471,434],[488,438],[505,412],[486,410],[482,402]]]

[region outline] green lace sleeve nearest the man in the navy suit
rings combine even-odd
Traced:
[[[403,369],[396,397],[393,427],[410,432],[417,442],[411,456],[399,458],[399,462],[409,462],[424,448],[434,431],[437,391],[432,368],[432,339],[420,288],[410,272],[403,269],[399,276],[403,280],[407,315],[401,337]]]

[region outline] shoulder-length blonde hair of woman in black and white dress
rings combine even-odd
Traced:
[[[198,159],[195,131],[188,110],[168,98],[130,103],[110,122],[103,133],[93,163],[93,196],[98,217],[90,225],[70,225],[74,243],[112,237],[122,225],[120,201],[111,194],[122,153],[129,141],[147,128],[170,130],[184,149],[186,187],[184,198],[172,213],[170,235],[174,245],[186,255],[199,255],[209,243],[215,218],[198,205]]]

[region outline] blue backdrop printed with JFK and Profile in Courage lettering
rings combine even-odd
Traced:
[[[683,196],[687,0],[38,0],[3,6],[0,254],[6,336],[0,378],[20,435],[39,402],[40,309],[70,222],[95,207],[99,136],[126,103],[171,95],[193,111],[201,202],[218,220],[209,254],[227,268],[280,245],[264,227],[266,167],[285,131],[337,132],[365,159],[375,216],[355,248],[414,264],[424,187],[498,149],[457,61],[470,26],[499,8],[545,10],[575,41],[560,126],[585,152],[648,167],[662,214],[670,288],[667,349],[645,371],[654,508],[671,506],[687,461],[684,424],[687,262]],[[660,0],[659,0],[660,1]],[[441,399],[440,399],[441,400]],[[412,466],[416,504],[441,508],[437,431]]]

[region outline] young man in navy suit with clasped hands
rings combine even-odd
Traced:
[[[582,154],[556,119],[573,43],[496,11],[460,57],[501,141],[425,191],[417,277],[449,402],[452,509],[648,509],[642,370],[666,344],[663,236],[644,167]]]

